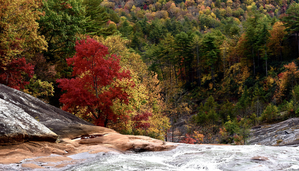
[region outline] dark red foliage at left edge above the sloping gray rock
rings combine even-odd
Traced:
[[[33,65],[26,62],[26,59],[12,59],[10,62],[0,62],[0,83],[11,88],[20,90],[24,85],[29,84],[26,76],[32,78]]]

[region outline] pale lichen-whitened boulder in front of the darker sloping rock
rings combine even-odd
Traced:
[[[0,145],[36,140],[55,142],[57,135],[23,109],[0,99]]]

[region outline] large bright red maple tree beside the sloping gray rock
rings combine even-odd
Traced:
[[[120,71],[120,59],[116,55],[108,56],[108,48],[94,39],[77,41],[76,54],[67,59],[73,66],[72,79],[57,80],[62,91],[60,97],[63,110],[74,112],[84,109],[83,118],[93,120],[97,126],[107,126],[116,121],[117,114],[111,106],[115,100],[128,104],[126,88],[117,80],[130,78],[129,71]]]

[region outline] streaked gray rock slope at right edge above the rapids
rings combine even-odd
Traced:
[[[299,118],[251,129],[249,144],[267,146],[299,146]]]

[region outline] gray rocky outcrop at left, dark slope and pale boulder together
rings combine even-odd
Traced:
[[[83,131],[86,126],[94,126],[74,114],[2,84],[0,100],[0,145],[28,140],[55,142],[57,135],[60,138],[68,137],[70,131],[84,135],[87,133]]]

